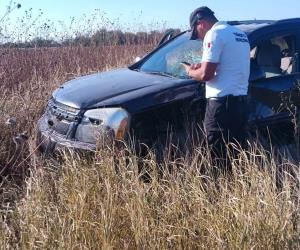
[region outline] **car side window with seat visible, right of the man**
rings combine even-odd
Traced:
[[[264,41],[252,49],[251,60],[262,78],[297,73],[296,37],[278,36]]]

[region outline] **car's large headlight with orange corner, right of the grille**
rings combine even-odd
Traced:
[[[75,138],[87,143],[96,143],[107,137],[123,140],[129,125],[130,115],[122,108],[92,109],[85,112]]]

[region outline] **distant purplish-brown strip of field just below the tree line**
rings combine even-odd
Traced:
[[[0,49],[0,82],[2,90],[28,87],[65,80],[76,76],[124,67],[135,57],[150,51],[153,45],[100,47],[61,47]],[[30,82],[35,83],[30,84]],[[49,84],[48,84],[49,85]]]

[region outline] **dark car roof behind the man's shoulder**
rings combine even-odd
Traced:
[[[282,19],[282,20],[245,20],[245,21],[228,21],[230,25],[234,25],[237,28],[241,29],[248,35],[255,30],[258,30],[265,26],[276,26],[276,25],[290,25],[290,24],[299,24],[300,18],[290,18],[290,19]]]

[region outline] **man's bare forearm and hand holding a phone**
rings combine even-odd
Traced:
[[[185,70],[195,80],[210,81],[215,76],[217,66],[217,63],[203,62],[201,65],[185,66]]]

